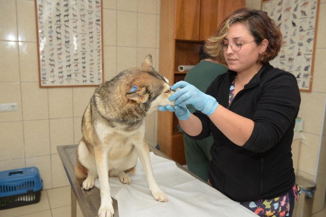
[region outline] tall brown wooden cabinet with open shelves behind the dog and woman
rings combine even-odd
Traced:
[[[160,11],[159,72],[174,84],[184,79],[179,65],[196,65],[199,48],[218,25],[245,0],[164,0]],[[185,165],[182,133],[171,112],[158,113],[157,143],[160,151]]]

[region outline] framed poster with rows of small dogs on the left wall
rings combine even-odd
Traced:
[[[102,0],[35,0],[41,88],[103,83]]]

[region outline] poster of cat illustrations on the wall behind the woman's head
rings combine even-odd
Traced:
[[[311,92],[319,0],[263,0],[262,10],[283,34],[276,68],[294,74],[300,91]]]

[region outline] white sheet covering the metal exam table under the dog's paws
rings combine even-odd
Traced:
[[[179,169],[174,161],[150,152],[155,179],[169,198],[168,203],[154,200],[149,192],[146,175],[140,160],[136,172],[130,175],[130,185],[121,184],[118,178],[110,178],[111,196],[118,201],[120,217],[146,216],[205,216],[205,217],[255,217],[254,212],[195,179]],[[99,186],[98,179],[95,186]]]

